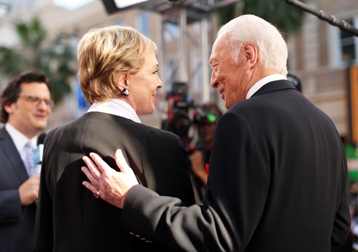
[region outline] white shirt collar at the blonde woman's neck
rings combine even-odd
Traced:
[[[95,102],[88,109],[87,113],[88,112],[107,113],[115,116],[121,116],[134,122],[141,123],[134,109],[128,103],[119,99],[112,99],[107,102]]]

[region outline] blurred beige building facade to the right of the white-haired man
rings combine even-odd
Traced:
[[[358,26],[355,0],[316,0],[309,5]],[[343,139],[349,139],[347,68],[357,64],[358,38],[308,13],[288,41],[289,71],[301,80],[303,94],[333,120]]]

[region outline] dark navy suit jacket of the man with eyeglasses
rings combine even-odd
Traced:
[[[0,129],[0,252],[35,251],[35,203],[21,206],[19,186],[28,179],[5,127]]]

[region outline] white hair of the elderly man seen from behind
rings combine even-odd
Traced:
[[[287,76],[287,45],[275,26],[254,15],[239,16],[223,25],[217,35],[228,35],[232,47],[231,57],[238,64],[238,55],[246,42],[255,43],[260,62],[266,69],[276,70]]]

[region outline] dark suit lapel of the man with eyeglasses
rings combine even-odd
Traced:
[[[27,174],[25,165],[20,157],[20,154],[18,150],[16,149],[16,146],[11,139],[11,136],[9,135],[8,131],[6,131],[5,127],[2,127],[0,129],[0,147],[3,149],[5,155],[10,160],[11,164],[13,164],[13,168],[16,171],[16,174],[18,174],[21,181],[25,181],[29,178],[29,175]]]

